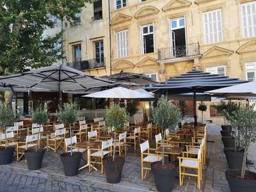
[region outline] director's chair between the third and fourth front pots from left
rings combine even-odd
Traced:
[[[102,141],[101,148],[90,148],[91,163],[100,164],[101,174],[103,174],[103,162],[102,159],[108,154],[112,154],[113,140]],[[93,161],[92,161],[93,159]],[[97,161],[99,159],[99,161]],[[89,172],[91,172],[92,166],[89,166]]]

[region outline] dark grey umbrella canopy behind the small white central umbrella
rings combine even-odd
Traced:
[[[129,83],[136,83],[144,86],[145,84],[156,83],[154,79],[145,76],[143,74],[136,74],[131,72],[120,72],[118,74],[113,74],[111,76],[102,76],[107,78],[111,81],[122,81],[122,82],[129,82]]]

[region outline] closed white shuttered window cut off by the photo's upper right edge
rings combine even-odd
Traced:
[[[243,36],[256,36],[256,1],[241,4]]]

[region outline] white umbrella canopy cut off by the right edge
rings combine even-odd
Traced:
[[[218,95],[220,97],[237,99],[256,97],[256,82],[253,81],[243,84],[236,84],[234,86],[212,90],[207,93]]]

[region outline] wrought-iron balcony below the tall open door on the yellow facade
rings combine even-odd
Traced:
[[[198,43],[158,49],[159,61],[184,61],[196,56],[200,56]]]

